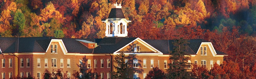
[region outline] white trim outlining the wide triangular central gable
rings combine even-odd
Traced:
[[[130,43],[126,44],[124,47],[120,48],[119,50],[115,51],[113,54],[118,54],[118,52],[120,50],[122,50],[123,48],[127,47],[128,45],[130,45],[131,43],[133,43],[134,41],[138,41],[140,42],[141,44],[145,45],[147,48],[149,48],[150,50],[154,51],[154,52],[157,52],[157,53],[125,53],[125,54],[147,54],[147,55],[150,55],[150,54],[153,54],[153,55],[163,55],[162,52],[158,51],[156,48],[154,48],[153,46],[151,46],[150,44],[148,44],[147,42],[143,41],[142,39],[140,38],[136,38],[134,39],[133,41],[131,41]]]

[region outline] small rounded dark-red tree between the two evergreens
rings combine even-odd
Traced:
[[[166,79],[166,76],[165,72],[160,70],[158,67],[154,67],[150,72],[148,72],[145,79]]]

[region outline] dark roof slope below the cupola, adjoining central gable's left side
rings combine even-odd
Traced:
[[[136,38],[127,37],[105,37],[103,39],[96,39],[100,41],[96,42],[99,46],[94,48],[94,54],[114,53],[135,39]]]

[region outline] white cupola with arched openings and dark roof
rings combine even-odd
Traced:
[[[121,3],[112,4],[108,19],[102,22],[106,23],[106,37],[127,37],[127,23],[131,21],[125,19]]]

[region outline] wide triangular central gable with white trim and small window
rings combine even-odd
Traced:
[[[134,48],[136,47],[136,48]],[[115,51],[113,54],[118,54],[118,52],[124,51],[125,54],[158,54],[163,55],[162,52],[148,44],[147,42],[143,41],[140,38],[137,38],[124,47],[120,48],[119,50]]]

